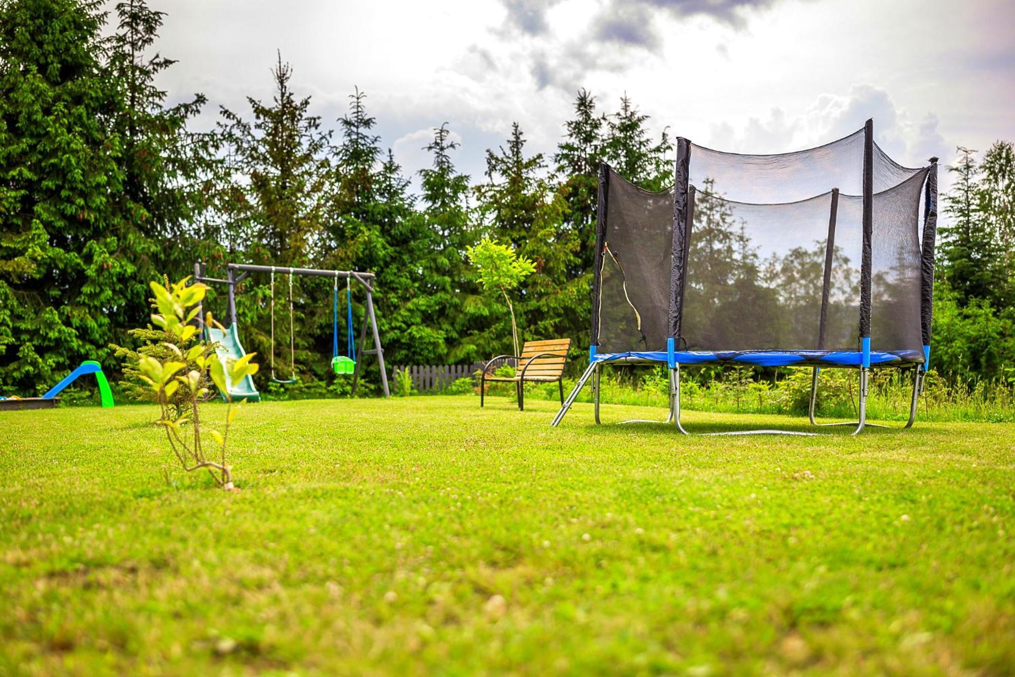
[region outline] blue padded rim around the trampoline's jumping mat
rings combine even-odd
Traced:
[[[861,351],[677,351],[673,354],[677,364],[749,364],[757,367],[859,367],[864,354]],[[629,364],[666,364],[666,351],[598,353],[596,362],[624,362]],[[922,364],[921,351],[872,351],[871,366],[900,366]]]

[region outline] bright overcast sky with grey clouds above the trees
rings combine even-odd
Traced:
[[[552,153],[574,95],[625,91],[653,129],[717,149],[809,147],[875,120],[903,165],[1015,139],[1015,2],[928,0],[151,0],[174,101],[249,114],[275,50],[327,126],[358,85],[407,174],[448,122],[460,169],[518,121]]]

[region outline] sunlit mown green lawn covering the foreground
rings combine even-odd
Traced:
[[[252,405],[238,494],[153,408],[0,413],[0,674],[1015,671],[1015,425],[527,404]]]

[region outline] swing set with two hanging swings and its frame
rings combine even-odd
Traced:
[[[384,349],[381,348],[381,335],[378,331],[377,315],[374,311],[374,273],[373,272],[358,272],[356,270],[323,270],[319,268],[294,268],[294,267],[280,267],[274,265],[251,265],[247,263],[227,263],[225,266],[226,279],[219,280],[216,278],[208,278],[205,275],[205,264],[195,263],[194,264],[194,280],[203,283],[222,283],[228,285],[228,318],[230,326],[226,330],[226,334],[234,338],[231,344],[227,343],[222,351],[219,352],[220,359],[238,359],[243,355],[243,349],[240,347],[239,342],[239,330],[236,328],[236,302],[235,302],[235,292],[236,285],[242,283],[244,280],[250,275],[252,272],[267,272],[270,274],[271,280],[271,348],[270,348],[270,364],[271,364],[271,380],[275,383],[289,384],[295,383],[298,380],[296,375],[296,365],[295,365],[295,338],[294,338],[294,326],[293,326],[293,312],[292,312],[292,280],[293,275],[311,275],[319,278],[332,278],[334,280],[334,285],[332,287],[332,357],[331,357],[331,368],[335,374],[340,376],[352,376],[352,393],[356,392],[356,385],[359,380],[359,368],[362,360],[356,360],[356,354],[358,352],[360,358],[366,355],[376,355],[378,358],[378,365],[381,368],[381,384],[384,387],[384,394],[386,397],[391,396],[391,392],[388,388],[388,375],[385,373],[384,366]],[[275,373],[275,273],[288,275],[288,294],[286,301],[289,306],[289,375],[287,378],[283,378]],[[345,278],[345,336],[346,336],[346,347],[345,355],[339,355],[338,353],[338,281],[340,278]],[[360,324],[359,332],[359,349],[356,349],[356,338],[353,332],[353,320],[352,320],[352,282],[357,282],[363,290],[366,292],[366,299],[363,303],[363,321]],[[198,313],[199,322],[203,322],[202,315],[203,310]],[[367,320],[370,325],[374,348],[366,350],[366,324]],[[202,324],[202,328],[203,324]],[[232,353],[239,352],[239,355],[232,355]],[[230,384],[231,387],[231,384]],[[253,388],[253,383],[249,384],[250,388]]]

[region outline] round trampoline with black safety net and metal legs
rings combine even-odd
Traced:
[[[912,374],[912,425],[930,360],[937,158],[894,162],[874,123],[816,148],[746,156],[677,139],[676,184],[650,192],[599,172],[590,364],[560,423],[610,365],[665,364],[680,421],[681,367],[813,370],[810,422],[866,422],[871,369]],[[858,421],[818,424],[821,369],[856,369]],[[750,430],[713,434],[814,434]]]

